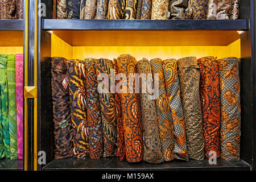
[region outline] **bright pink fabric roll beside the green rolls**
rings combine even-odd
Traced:
[[[15,55],[18,159],[23,159],[23,55]]]

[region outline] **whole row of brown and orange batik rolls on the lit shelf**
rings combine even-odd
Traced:
[[[53,57],[55,158],[239,160],[238,62]]]

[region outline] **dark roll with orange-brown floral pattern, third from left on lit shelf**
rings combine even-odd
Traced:
[[[85,90],[87,108],[87,126],[89,135],[90,158],[98,159],[103,156],[104,141],[98,83],[96,75],[96,59],[85,59]]]

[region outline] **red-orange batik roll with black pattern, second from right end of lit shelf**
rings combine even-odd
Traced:
[[[220,157],[220,81],[215,57],[197,60],[200,68],[200,98],[204,126],[204,151]]]

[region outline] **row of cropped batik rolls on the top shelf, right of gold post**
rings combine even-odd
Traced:
[[[53,19],[238,19],[240,0],[53,0]]]

